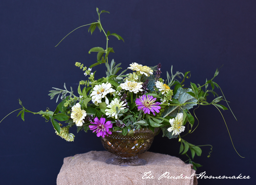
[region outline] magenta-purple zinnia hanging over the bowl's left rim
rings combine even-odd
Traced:
[[[113,127],[113,123],[111,123],[110,121],[107,121],[105,123],[105,121],[105,118],[100,118],[99,120],[97,117],[95,117],[94,122],[90,122],[94,125],[89,125],[89,128],[90,130],[93,130],[93,132],[97,133],[97,137],[105,137],[105,135],[109,136],[110,134],[112,134],[112,132],[110,132],[109,129]]]

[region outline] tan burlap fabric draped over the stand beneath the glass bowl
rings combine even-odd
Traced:
[[[170,155],[145,152],[139,158],[145,159],[144,166],[118,166],[105,163],[114,157],[107,151],[91,151],[64,158],[57,178],[57,185],[197,185],[197,179],[158,179],[163,173],[169,176],[188,176],[195,173],[191,164]],[[151,171],[154,179],[142,179]],[[152,176],[151,175],[151,176]],[[148,175],[145,175],[146,177]],[[195,176],[194,176],[195,177]]]

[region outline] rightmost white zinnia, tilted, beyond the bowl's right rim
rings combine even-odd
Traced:
[[[169,127],[167,130],[169,132],[173,130],[172,135],[178,135],[185,130],[185,126],[183,126],[183,113],[178,113],[176,118],[170,119],[169,122],[171,127]]]

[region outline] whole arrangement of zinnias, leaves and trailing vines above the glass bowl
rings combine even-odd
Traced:
[[[77,133],[81,130],[87,132],[90,129],[97,134],[97,137],[111,135],[116,130],[122,131],[123,135],[139,128],[150,128],[154,132],[155,127],[159,127],[163,137],[179,138],[180,153],[188,156],[187,152],[190,150],[189,163],[194,165],[194,169],[200,167],[201,165],[192,161],[195,154],[201,155],[200,146],[188,143],[182,139],[182,134],[185,130],[187,134],[193,133],[198,126],[198,124],[194,126],[196,116],[195,112],[191,112],[194,106],[213,105],[217,109],[227,110],[224,105],[219,104],[225,101],[228,105],[225,96],[218,96],[214,91],[215,87],[221,89],[213,81],[219,69],[215,71],[213,78],[206,79],[202,86],[190,82],[189,87],[184,87],[183,83],[189,79],[190,72],[174,74],[171,66],[171,73],[167,72],[167,79],[162,79],[160,63],[148,67],[133,62],[119,73],[122,69],[119,67],[121,63],[116,64],[114,59],[111,62],[108,60],[109,54],[114,53],[113,48],[108,47],[108,41],[110,36],[122,41],[124,39],[116,33],[104,31],[100,21],[102,13],[109,12],[104,10],[99,12],[97,8],[99,19],[97,22],[88,24],[90,25],[88,31],[92,34],[96,27],[100,32],[103,31],[106,36],[106,48],[94,47],[89,50],[89,53],[97,52],[97,62],[88,68],[80,62],[75,63],[75,66],[83,71],[84,77],[88,77],[87,80],[79,82],[78,95],[75,95],[72,87],[68,91],[64,83],[64,89],[53,88],[54,90],[49,91],[51,99],[57,96],[56,103],[59,98],[61,99],[55,111],[47,109],[31,112],[25,109],[19,100],[22,110],[18,115],[21,114],[23,121],[25,112],[42,115],[46,121],[51,121],[55,133],[66,141],[74,141],[74,134],[69,133],[69,128],[74,125],[77,127]],[[106,76],[95,79],[94,67],[99,64],[106,66]],[[209,84],[211,89],[208,88]],[[207,101],[209,93],[217,96],[211,102]],[[56,120],[65,121],[67,125],[62,126]]]

